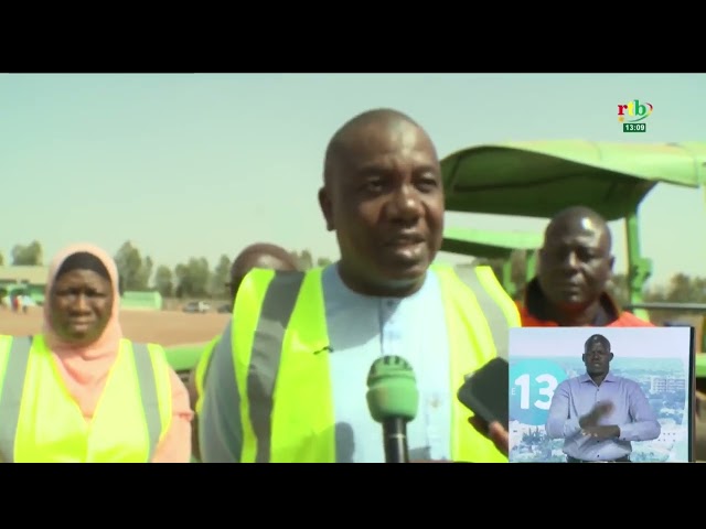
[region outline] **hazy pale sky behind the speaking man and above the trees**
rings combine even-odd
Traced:
[[[644,142],[706,139],[704,75],[0,75],[0,250],[39,239],[158,263],[212,264],[264,240],[336,257],[317,204],[323,152],[349,118],[394,107],[440,156],[506,140],[625,141],[617,105],[654,105]],[[657,186],[642,206],[653,283],[706,274],[704,193]],[[447,224],[541,230],[544,220],[449,214]],[[612,225],[624,271],[623,225]],[[458,259],[443,256],[450,261]]]

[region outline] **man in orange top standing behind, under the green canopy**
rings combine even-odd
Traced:
[[[538,252],[537,277],[520,303],[523,327],[652,327],[607,292],[616,258],[606,220],[588,207],[558,213]]]

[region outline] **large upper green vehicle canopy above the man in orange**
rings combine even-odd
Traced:
[[[706,182],[706,142],[516,141],[441,161],[447,209],[550,218],[571,205],[624,218],[660,182]]]

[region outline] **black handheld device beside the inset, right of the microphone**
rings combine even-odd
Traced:
[[[510,365],[503,358],[493,358],[478,371],[468,376],[458,390],[459,401],[485,421],[509,427],[509,378]]]

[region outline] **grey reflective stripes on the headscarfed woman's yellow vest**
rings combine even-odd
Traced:
[[[24,381],[30,363],[33,337],[14,337],[8,354],[2,390],[0,391],[0,453],[14,462],[15,438],[20,420]],[[140,389],[142,409],[149,436],[149,456],[151,461],[163,433],[162,413],[154,366],[147,344],[131,344],[132,358]]]

